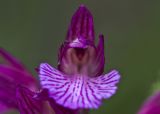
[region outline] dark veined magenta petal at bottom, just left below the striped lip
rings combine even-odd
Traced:
[[[54,114],[46,101],[36,99],[36,93],[19,86],[16,90],[17,104],[20,114]]]

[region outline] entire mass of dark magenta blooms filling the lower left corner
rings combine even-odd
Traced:
[[[0,48],[0,113],[16,109],[20,114],[78,114],[50,100],[29,71]],[[43,98],[42,98],[43,97]],[[45,98],[45,100],[44,100]]]

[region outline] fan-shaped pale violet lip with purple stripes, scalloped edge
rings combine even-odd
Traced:
[[[67,76],[46,63],[40,65],[41,85],[49,90],[49,97],[71,109],[98,108],[102,99],[116,92],[119,79],[116,70],[90,78],[82,75]]]

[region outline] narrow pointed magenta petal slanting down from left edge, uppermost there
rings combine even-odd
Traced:
[[[11,54],[9,54],[3,48],[0,48],[0,58],[3,58],[11,66],[13,66],[19,70],[25,70],[25,67],[23,66],[23,64],[21,64],[20,61],[18,61],[15,57],[13,57]]]

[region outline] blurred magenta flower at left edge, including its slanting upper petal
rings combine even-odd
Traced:
[[[17,59],[0,48],[0,112],[16,108],[16,88],[18,85],[36,90],[37,82]]]

